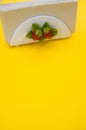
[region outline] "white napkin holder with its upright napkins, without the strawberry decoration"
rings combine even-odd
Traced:
[[[70,37],[76,29],[77,0],[40,0],[0,4],[0,16],[6,42],[11,46],[38,42],[26,37],[32,24],[47,22],[57,35],[45,40]]]

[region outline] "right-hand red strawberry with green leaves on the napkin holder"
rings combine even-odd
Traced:
[[[42,30],[45,39],[51,39],[57,34],[57,30],[55,28],[51,28],[47,22],[43,25]]]

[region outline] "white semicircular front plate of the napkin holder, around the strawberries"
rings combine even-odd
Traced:
[[[28,19],[19,25],[19,27],[17,27],[11,38],[10,45],[18,46],[36,42],[32,39],[26,38],[26,34],[29,30],[31,30],[33,23],[38,23],[40,26],[42,26],[45,22],[48,22],[52,27],[58,30],[58,34],[54,36],[53,39],[70,37],[71,31],[62,20],[53,16],[36,16]]]

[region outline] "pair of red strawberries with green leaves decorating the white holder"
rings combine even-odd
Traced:
[[[33,40],[44,40],[44,39],[51,39],[57,35],[57,29],[51,28],[49,23],[45,22],[42,27],[38,24],[32,24],[31,30],[27,33],[26,37]]]

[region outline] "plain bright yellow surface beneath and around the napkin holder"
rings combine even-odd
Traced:
[[[0,23],[0,130],[86,130],[86,0],[69,39],[10,48]]]

